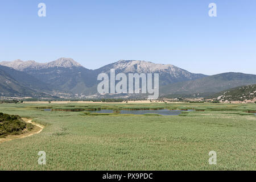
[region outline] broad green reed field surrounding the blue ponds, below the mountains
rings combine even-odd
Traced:
[[[44,108],[84,111],[44,111]],[[180,115],[88,114],[101,109],[196,109]],[[89,109],[86,109],[89,108]],[[255,170],[256,104],[1,104],[39,134],[0,144],[0,170]],[[46,165],[38,152],[46,152]],[[210,165],[209,151],[217,152]]]

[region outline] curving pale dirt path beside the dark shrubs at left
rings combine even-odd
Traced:
[[[31,123],[32,125],[34,125],[35,126],[34,129],[20,135],[9,135],[6,138],[0,138],[0,143],[7,142],[13,139],[30,137],[31,135],[40,133],[44,129],[43,125],[39,125],[32,122],[32,119],[22,118],[22,120],[26,123]]]

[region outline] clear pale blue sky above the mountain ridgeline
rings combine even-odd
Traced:
[[[38,16],[40,2],[46,17]],[[0,61],[59,57],[89,69],[125,59],[256,74],[256,1],[0,1]]]

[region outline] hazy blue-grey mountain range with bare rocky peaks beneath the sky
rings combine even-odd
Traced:
[[[191,73],[171,64],[119,60],[92,70],[70,58],[49,63],[2,61],[0,92],[6,97],[85,97],[97,94],[99,73],[159,73],[160,95],[221,92],[236,86],[256,84],[256,75],[223,73],[214,76]]]

